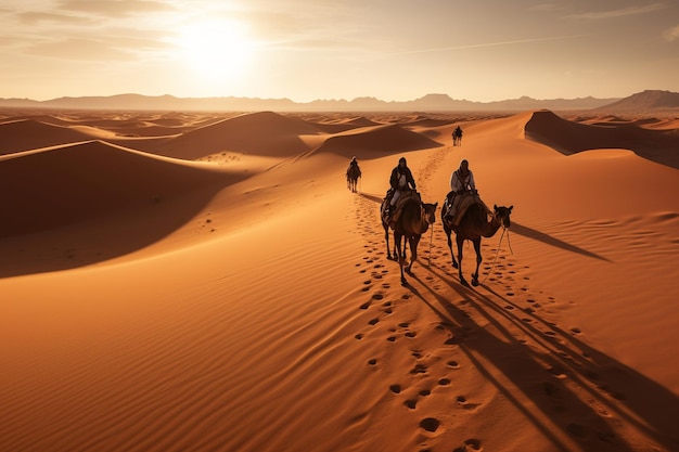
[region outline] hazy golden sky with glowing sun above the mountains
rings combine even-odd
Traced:
[[[679,92],[678,0],[0,0],[0,98]]]

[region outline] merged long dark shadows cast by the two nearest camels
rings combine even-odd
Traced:
[[[479,326],[473,320],[474,315],[453,306],[417,276],[430,294],[423,296],[411,286],[413,294],[441,319],[460,350],[507,400],[531,419],[550,439],[554,450],[565,452],[569,449],[552,432],[553,427],[541,418],[549,418],[551,424],[577,440],[584,451],[637,450],[611,427],[616,417],[633,425],[667,450],[679,448],[674,427],[679,415],[679,399],[671,391],[491,288],[484,286],[492,294],[489,297],[460,285],[446,273],[430,270],[462,295],[465,299],[462,305],[483,315],[491,327]],[[440,308],[427,300],[432,297]],[[504,307],[498,306],[498,300]],[[498,333],[494,335],[491,330]],[[484,362],[491,363],[496,370],[487,369]],[[498,371],[515,389],[494,377]],[[516,389],[540,410],[540,416],[517,398]]]

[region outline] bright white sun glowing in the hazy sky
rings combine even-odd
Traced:
[[[233,79],[247,70],[255,46],[234,21],[208,21],[183,27],[176,39],[181,59],[206,79]]]

